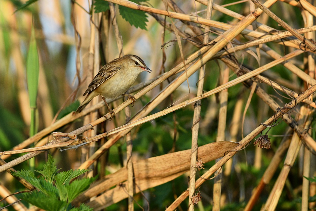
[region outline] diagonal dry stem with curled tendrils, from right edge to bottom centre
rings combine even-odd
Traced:
[[[288,106],[294,106],[297,103],[300,103],[303,99],[307,98],[311,94],[313,94],[316,91],[316,85],[313,85],[311,88],[303,92],[300,96],[296,98],[296,100],[292,100],[291,102],[286,104],[286,107]],[[278,111],[275,115],[271,116],[268,120],[266,120],[263,124],[265,125],[270,125],[272,124],[276,119],[280,118],[283,116],[284,113],[288,112],[291,110],[289,107],[288,108],[282,108],[280,111]],[[242,139],[239,142],[239,146],[234,148],[234,151],[228,152],[219,162],[214,164],[208,171],[202,175],[201,178],[199,178],[196,181],[196,187],[198,188],[201,186],[206,180],[205,178],[209,178],[214,172],[219,169],[224,163],[226,163],[229,158],[233,157],[238,151],[243,149],[245,146],[249,144],[249,142],[256,137],[259,133],[261,133],[266,127],[263,125],[259,125],[255,130],[253,130],[251,133],[249,133],[244,139]],[[176,209],[179,204],[188,196],[188,191],[183,192],[166,210],[174,210]]]

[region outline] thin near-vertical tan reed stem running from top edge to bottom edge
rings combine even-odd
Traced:
[[[206,19],[210,19],[212,16],[212,5],[213,0],[208,1],[207,10],[206,10]],[[205,26],[205,32],[210,30],[209,26]],[[203,44],[207,44],[209,42],[209,33],[204,35]],[[205,65],[200,68],[198,85],[197,85],[197,96],[203,94],[203,85],[204,85],[204,77],[205,77]],[[196,179],[196,171],[197,168],[194,167],[197,164],[197,148],[198,148],[198,132],[201,120],[201,101],[197,101],[194,106],[193,113],[193,122],[192,122],[192,143],[191,143],[191,165],[190,165],[190,177],[189,177],[189,202],[188,202],[188,211],[194,210],[194,203],[192,203],[193,195],[195,195],[195,179]],[[202,158],[201,158],[202,159]],[[191,198],[190,198],[191,197]]]

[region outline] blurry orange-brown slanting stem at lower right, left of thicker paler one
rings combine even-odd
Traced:
[[[278,146],[276,152],[271,159],[270,164],[268,165],[267,169],[264,171],[264,174],[257,186],[257,188],[253,191],[244,211],[251,211],[253,206],[257,204],[260,194],[264,187],[270,183],[274,173],[279,167],[279,164],[283,160],[285,151],[289,148],[290,139],[287,137],[288,134],[292,133],[292,128],[288,128],[285,136],[283,137],[280,145]]]

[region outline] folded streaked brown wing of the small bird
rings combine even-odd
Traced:
[[[95,88],[100,86],[103,82],[105,82],[107,79],[111,78],[115,73],[117,73],[121,68],[113,65],[105,65],[101,68],[101,70],[98,72],[98,74],[94,77],[94,79],[91,81],[91,83],[88,86],[88,89],[83,94],[85,96],[89,92],[92,92]]]

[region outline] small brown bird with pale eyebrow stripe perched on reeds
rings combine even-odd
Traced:
[[[88,89],[83,94],[87,97],[81,103],[76,113],[81,112],[95,96],[101,95],[104,100],[111,117],[115,115],[114,111],[106,102],[106,98],[116,98],[120,95],[128,96],[132,100],[132,104],[136,101],[134,96],[124,94],[137,79],[139,73],[151,71],[140,57],[136,55],[125,55],[121,58],[114,59],[104,65],[99,73],[89,84]]]

